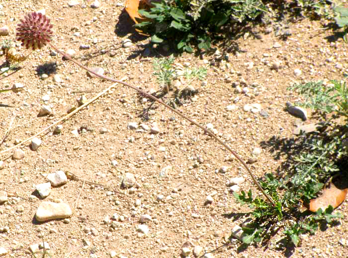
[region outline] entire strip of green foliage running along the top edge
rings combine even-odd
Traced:
[[[189,53],[195,47],[209,50],[211,42],[226,37],[227,31],[236,35],[251,22],[262,23],[264,14],[279,10],[278,16],[283,17],[286,9],[302,16],[333,18],[326,0],[160,0],[152,5],[149,10],[139,10],[148,20],[135,26],[150,33],[153,43],[166,42],[179,52]]]

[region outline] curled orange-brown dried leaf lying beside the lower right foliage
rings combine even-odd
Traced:
[[[317,212],[321,208],[324,211],[329,205],[335,209],[346,199],[347,192],[348,188],[338,189],[333,183],[330,183],[321,196],[310,201],[309,210]]]

